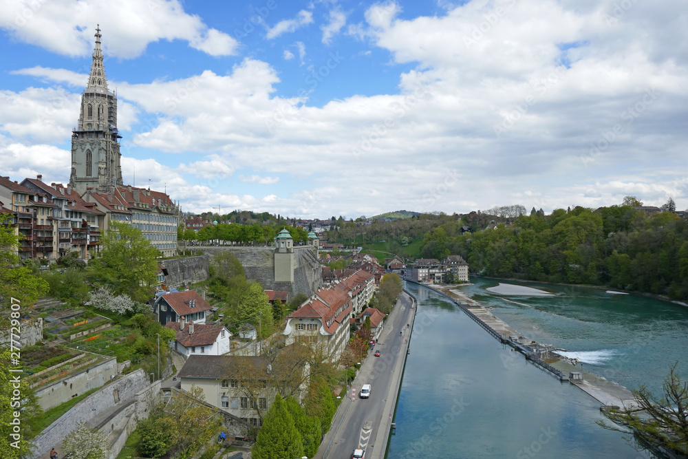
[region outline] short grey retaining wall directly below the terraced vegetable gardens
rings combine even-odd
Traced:
[[[117,359],[111,357],[65,378],[36,387],[36,397],[43,410],[56,407],[96,387],[101,387],[117,374]]]

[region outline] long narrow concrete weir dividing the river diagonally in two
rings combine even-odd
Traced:
[[[541,366],[550,370],[562,381],[568,380],[571,384],[579,387],[583,392],[599,401],[601,405],[630,408],[638,406],[635,396],[629,389],[594,373],[585,372],[582,368],[582,363],[578,365],[576,361],[557,354],[557,350],[552,345],[537,343],[532,339],[528,339],[528,337],[524,337],[504,321],[495,317],[494,314],[469,297],[469,295],[458,290],[458,286],[435,285],[427,287],[461,303],[460,306],[464,310],[468,310],[473,319],[479,321],[484,328],[493,330],[492,334],[502,342],[513,345],[514,348],[521,352],[537,354],[537,358],[546,364]],[[582,379],[579,379],[579,375],[582,376]]]

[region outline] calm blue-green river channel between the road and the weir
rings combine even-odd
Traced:
[[[470,288],[488,297],[481,289],[489,285]],[[528,363],[440,295],[415,284],[407,288],[418,298],[418,314],[388,458],[648,457],[594,423],[602,416],[590,396]],[[608,314],[571,320],[593,316],[605,321]],[[544,322],[533,323],[546,330]],[[586,342],[574,336],[579,345]]]

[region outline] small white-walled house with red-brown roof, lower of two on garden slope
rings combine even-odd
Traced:
[[[170,341],[170,347],[184,356],[222,355],[229,352],[232,334],[224,325],[204,323],[168,322],[165,328],[174,330],[177,339]]]

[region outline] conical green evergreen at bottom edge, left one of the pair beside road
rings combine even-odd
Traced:
[[[279,394],[268,409],[251,453],[255,459],[293,459],[303,456],[301,434]]]

